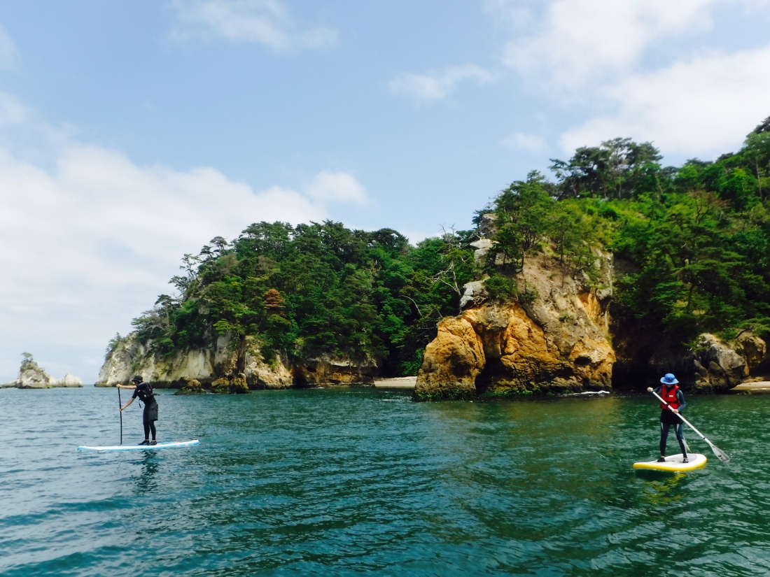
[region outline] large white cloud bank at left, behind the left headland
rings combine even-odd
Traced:
[[[321,222],[331,203],[368,202],[346,172],[255,190],[215,168],[140,166],[72,140],[49,145],[45,162],[0,146],[0,382],[15,378],[24,351],[55,376],[94,379],[112,335],[172,292],[185,253],[252,222]]]

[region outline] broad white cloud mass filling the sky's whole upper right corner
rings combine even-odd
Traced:
[[[770,114],[770,48],[718,50],[718,11],[766,17],[768,0],[486,0],[511,35],[502,60],[535,94],[584,121],[561,135],[569,153],[608,138],[651,141],[665,155],[738,147]],[[712,34],[713,32],[713,34]],[[599,111],[599,112],[595,112]],[[530,148],[516,132],[504,143]]]

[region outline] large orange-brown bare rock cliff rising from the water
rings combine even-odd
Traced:
[[[525,260],[518,299],[494,302],[483,282],[466,285],[465,310],[440,322],[425,350],[415,399],[610,389],[612,258],[596,258],[593,286],[546,255]]]

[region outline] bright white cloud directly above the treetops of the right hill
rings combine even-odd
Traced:
[[[654,141],[666,155],[708,158],[737,148],[770,114],[770,48],[710,54],[602,89],[613,112],[565,132],[567,151],[616,136]]]

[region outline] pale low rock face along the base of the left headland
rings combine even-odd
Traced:
[[[99,371],[97,386],[128,382],[132,375],[156,386],[180,388],[189,379],[230,392],[248,389],[288,389],[316,385],[372,384],[373,362],[355,363],[346,359],[310,359],[290,366],[276,355],[265,362],[259,342],[233,335],[219,335],[208,349],[180,351],[162,358],[149,350],[149,344],[129,335],[108,356]],[[214,387],[216,385],[216,387]]]

